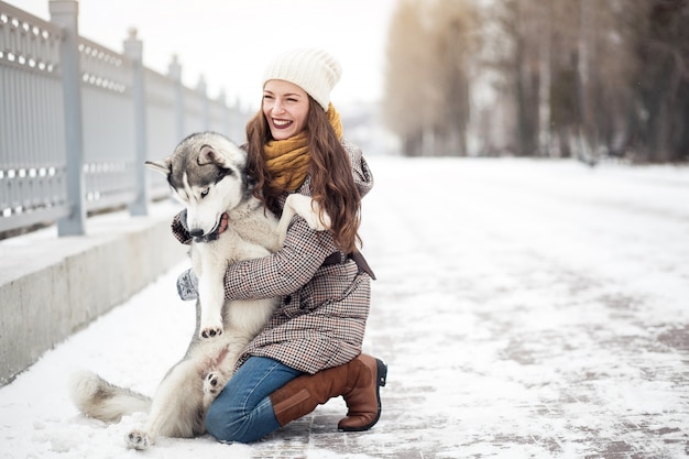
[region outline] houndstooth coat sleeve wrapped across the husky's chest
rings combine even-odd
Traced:
[[[328,231],[315,231],[302,217],[294,217],[277,252],[229,264],[225,273],[225,297],[259,299],[294,293],[308,283],[326,258],[336,251]]]

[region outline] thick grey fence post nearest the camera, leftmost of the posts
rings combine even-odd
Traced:
[[[67,146],[67,199],[69,215],[57,221],[58,236],[81,236],[86,226],[84,203],[84,135],[81,125],[81,78],[79,70],[79,3],[51,0],[51,22],[63,29],[59,64]]]

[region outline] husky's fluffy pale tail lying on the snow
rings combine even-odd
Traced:
[[[84,415],[108,423],[151,408],[150,397],[112,385],[91,371],[73,375],[72,400]]]

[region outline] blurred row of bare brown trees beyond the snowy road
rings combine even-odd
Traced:
[[[400,0],[387,123],[406,154],[687,161],[687,24],[689,0]]]

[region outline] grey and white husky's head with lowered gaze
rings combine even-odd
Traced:
[[[192,134],[171,156],[145,164],[167,177],[173,196],[187,208],[187,227],[196,239],[214,234],[222,212],[251,193],[247,152],[215,132]]]

